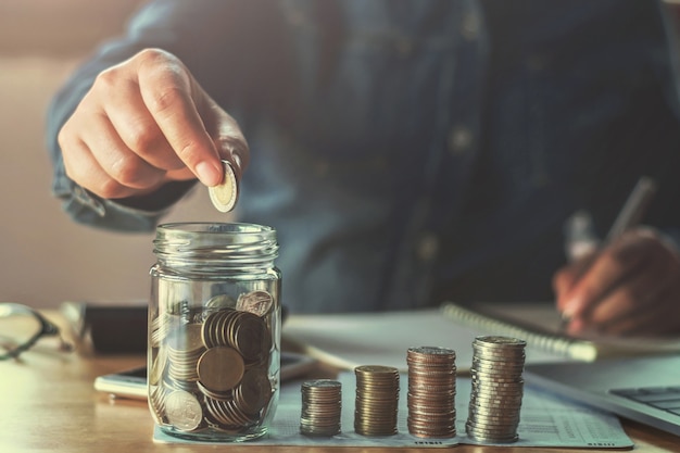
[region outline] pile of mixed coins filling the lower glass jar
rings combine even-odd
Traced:
[[[198,309],[179,303],[152,319],[149,401],[161,425],[238,433],[262,421],[275,390],[267,320],[273,298],[267,304],[265,291],[254,292],[243,295],[240,311],[216,297]]]

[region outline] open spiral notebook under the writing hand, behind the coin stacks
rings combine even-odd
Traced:
[[[332,366],[388,365],[406,369],[406,350],[437,345],[456,352],[458,370],[469,369],[471,342],[481,335],[503,335],[527,341],[527,363],[585,361],[602,357],[680,352],[680,338],[574,338],[559,329],[550,303],[461,305],[387,313],[292,315],[284,339]]]

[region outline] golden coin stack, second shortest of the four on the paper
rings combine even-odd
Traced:
[[[354,368],[356,400],[354,430],[362,436],[396,433],[399,370],[391,366],[363,365]]]

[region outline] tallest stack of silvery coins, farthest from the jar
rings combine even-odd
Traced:
[[[477,337],[473,342],[473,391],[465,425],[470,438],[490,443],[518,439],[526,344],[509,337]]]

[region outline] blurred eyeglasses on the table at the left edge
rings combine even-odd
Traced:
[[[0,361],[18,357],[46,337],[58,337],[61,351],[73,350],[59,327],[37,311],[18,303],[0,303]]]

